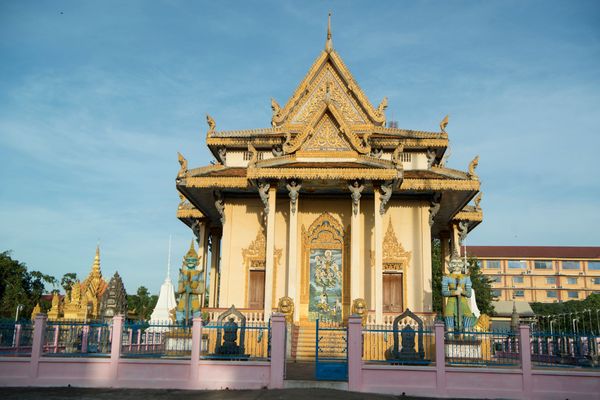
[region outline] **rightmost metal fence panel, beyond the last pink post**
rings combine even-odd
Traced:
[[[533,332],[531,361],[538,368],[600,368],[599,346],[597,335]]]

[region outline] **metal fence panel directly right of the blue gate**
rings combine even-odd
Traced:
[[[435,362],[435,333],[408,324],[394,330],[390,325],[367,325],[363,329],[363,360],[375,364],[431,365]],[[403,340],[403,336],[405,339]],[[395,345],[395,343],[397,345]]]

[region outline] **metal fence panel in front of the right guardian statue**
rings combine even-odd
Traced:
[[[446,332],[444,346],[448,366],[521,365],[519,336],[511,331]]]

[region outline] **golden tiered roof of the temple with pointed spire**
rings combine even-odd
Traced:
[[[386,127],[387,98],[377,107],[369,101],[334,50],[330,23],[325,48],[304,79],[283,107],[274,99],[271,107],[269,128],[219,131],[207,116],[206,143],[217,163],[188,169],[180,157],[177,215],[187,225],[196,215],[219,225],[215,191],[219,196],[256,194],[259,181],[283,191],[286,179],[302,180],[304,189],[323,193],[347,193],[353,180],[367,181],[365,194],[392,182],[395,193],[434,199],[443,194],[436,224],[447,225],[460,216],[472,229],[481,221],[481,209],[466,207],[480,188],[474,172],[478,159],[468,172],[441,164],[448,147],[447,117],[439,132]],[[247,164],[228,164],[232,152],[245,153]],[[427,169],[404,170],[403,156],[409,153],[427,153]]]

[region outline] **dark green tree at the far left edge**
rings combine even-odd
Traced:
[[[19,315],[28,318],[47,284],[56,286],[56,278],[27,271],[27,266],[13,259],[10,251],[0,253],[0,316],[12,318],[17,306],[22,305]]]

